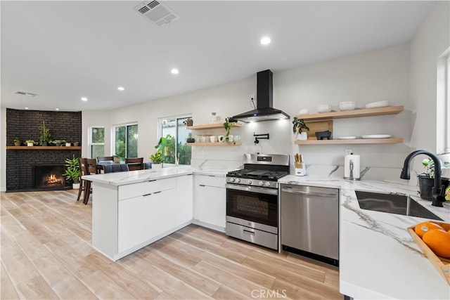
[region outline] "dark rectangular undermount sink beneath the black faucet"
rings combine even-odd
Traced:
[[[361,209],[443,221],[409,196],[355,191]]]

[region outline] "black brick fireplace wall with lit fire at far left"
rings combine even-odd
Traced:
[[[82,113],[81,112],[53,112],[41,110],[12,110],[6,109],[6,145],[14,144],[14,138],[20,141],[39,140],[39,126],[45,120],[50,129],[52,139],[64,139],[69,142],[82,140]],[[80,157],[80,149],[53,146],[45,149],[36,146],[23,149],[6,150],[6,192],[27,190],[62,190],[71,188],[62,178],[63,183],[58,184],[58,178],[49,179],[49,185],[43,186],[42,178],[48,173],[46,167],[59,166],[53,175],[61,177],[64,172],[66,158]],[[44,167],[46,166],[46,167]],[[62,167],[62,169],[61,169]],[[40,170],[43,169],[43,170]],[[59,171],[58,171],[59,169]],[[51,176],[52,174],[49,174]],[[60,179],[60,178],[59,178]],[[46,180],[46,179],[44,179]]]

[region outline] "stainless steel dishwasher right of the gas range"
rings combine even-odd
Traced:
[[[281,248],[339,264],[339,190],[281,184]]]

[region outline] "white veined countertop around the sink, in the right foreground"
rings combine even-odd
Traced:
[[[340,292],[354,299],[450,299],[450,286],[406,228],[425,219],[360,209],[355,190],[411,195],[446,222],[450,205],[432,207],[417,188],[387,181],[285,176],[281,183],[340,188]]]

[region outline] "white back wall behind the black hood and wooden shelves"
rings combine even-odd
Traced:
[[[194,124],[208,122],[211,112],[224,119],[227,116],[251,110],[250,96],[255,93],[256,74],[248,79],[180,96],[148,101],[108,112],[105,122],[139,123],[139,156],[148,161],[158,141],[158,118],[192,114]],[[330,60],[315,65],[274,72],[274,107],[287,112],[291,119],[298,110],[330,103],[338,108],[342,100],[354,100],[358,107],[376,100],[389,100],[390,105],[409,107],[409,45],[361,53],[356,56]],[[403,137],[409,143],[410,113],[395,116],[335,120],[335,136],[389,133]],[[232,129],[242,136],[243,145],[226,147],[194,147],[193,165],[208,162],[205,167],[238,167],[245,152],[257,150],[266,153],[293,155],[302,152],[307,164],[342,165],[345,148],[361,154],[362,167],[400,168],[400,160],[409,151],[407,145],[293,145],[291,120],[245,124]],[[99,125],[97,112],[83,113],[83,130]],[[106,129],[109,132],[109,129]],[[202,133],[202,132],[200,132]],[[217,129],[205,133],[223,134]],[[253,133],[269,133],[270,140],[255,146]],[[195,133],[193,134],[195,135]],[[85,147],[85,143],[83,144]],[[108,148],[107,148],[108,149]],[[108,154],[108,153],[107,153]]]

